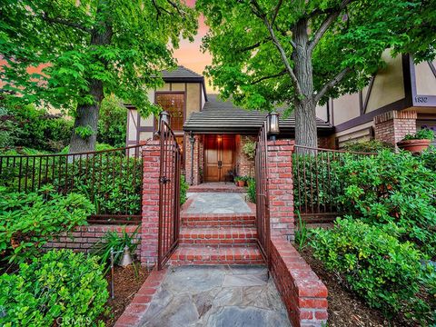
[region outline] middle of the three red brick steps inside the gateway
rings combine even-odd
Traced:
[[[257,230],[254,227],[212,227],[180,230],[181,244],[253,244],[257,242]]]

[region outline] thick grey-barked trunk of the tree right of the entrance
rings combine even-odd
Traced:
[[[295,49],[292,53],[293,71],[302,89],[302,98],[294,100],[295,144],[318,147],[316,104],[313,101],[312,54],[308,50],[307,21],[301,20],[292,30]]]

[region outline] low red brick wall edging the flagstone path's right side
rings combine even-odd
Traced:
[[[326,325],[327,288],[291,243],[272,237],[271,273],[292,326]]]

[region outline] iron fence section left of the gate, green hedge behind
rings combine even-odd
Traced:
[[[8,192],[82,193],[95,205],[90,223],[141,221],[142,145],[82,154],[0,156]]]

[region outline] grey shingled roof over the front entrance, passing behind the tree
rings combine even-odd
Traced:
[[[244,133],[257,134],[265,121],[266,113],[249,111],[234,106],[231,101],[221,101],[217,94],[208,94],[208,101],[203,111],[192,113],[183,125],[183,130],[193,133]],[[282,113],[284,108],[277,108]],[[317,127],[320,134],[332,133],[333,127],[322,119],[317,118]],[[281,134],[295,132],[295,116],[280,118]]]

